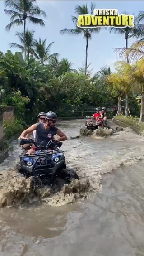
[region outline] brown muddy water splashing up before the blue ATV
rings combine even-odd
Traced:
[[[56,184],[45,186],[34,185],[33,179],[25,178],[15,169],[4,170],[0,174],[0,207],[19,206],[41,200],[51,206],[73,203],[78,198],[87,197],[90,183],[88,179],[72,180],[64,184],[57,179]]]

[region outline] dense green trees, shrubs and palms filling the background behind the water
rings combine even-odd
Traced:
[[[88,41],[94,33],[100,33],[102,29],[78,28],[76,24],[79,14],[93,13],[93,3],[90,10],[87,4],[76,5],[75,16],[72,16],[74,27],[60,30],[60,34],[82,35],[86,39],[85,65],[76,69],[67,58],[60,58],[58,53],[51,53],[54,44],[51,39],[48,43],[46,38],[36,40],[35,32],[26,29],[27,20],[35,26],[45,26],[45,21],[41,18],[46,19],[46,13],[40,10],[36,1],[4,2],[5,8],[8,8],[4,11],[10,17],[6,30],[11,30],[13,26],[23,26],[22,31],[16,32],[16,39],[19,41],[10,43],[10,47],[17,48],[20,52],[0,52],[0,105],[14,106],[14,116],[17,120],[17,124],[11,124],[14,132],[16,127],[21,129],[20,120],[31,124],[37,120],[37,113],[40,111],[56,111],[58,115],[64,116],[65,110],[115,105],[118,106],[119,115],[122,112],[121,100],[124,98],[125,117],[130,114],[137,115],[140,116],[140,122],[144,121],[144,26],[140,24],[144,19],[143,12],[138,15],[134,28],[111,29],[125,36],[126,48],[116,51],[120,53],[120,57],[123,55],[126,61],[116,63],[115,73],[111,73],[111,67],[103,66],[99,72],[93,74],[88,64]],[[128,48],[130,37],[139,41]],[[138,61],[131,64],[131,56],[135,56]],[[135,100],[139,93],[142,94],[141,110]],[[135,111],[130,112],[130,107],[135,108]],[[112,113],[111,111],[109,115],[112,116]],[[78,115],[74,111],[73,116]],[[8,138],[13,129],[5,124],[4,127],[7,127],[4,129],[8,130]]]

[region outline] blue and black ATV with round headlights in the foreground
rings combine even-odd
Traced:
[[[20,158],[19,172],[26,177],[33,177],[37,183],[39,180],[46,184],[55,184],[56,177],[64,179],[69,184],[72,179],[78,179],[79,176],[73,169],[68,169],[65,163],[64,152],[58,148],[62,142],[50,140],[48,143],[42,141],[37,144],[32,139],[21,139],[22,154]],[[29,147],[23,148],[23,145],[29,144]],[[35,154],[28,154],[31,145],[37,147]]]

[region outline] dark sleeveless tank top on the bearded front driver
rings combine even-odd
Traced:
[[[46,130],[44,128],[43,123],[38,123],[35,141],[37,143],[40,143],[42,141],[49,142],[50,140],[53,140],[53,136],[56,135],[57,130],[58,130],[58,128],[56,126],[51,127],[48,130]]]

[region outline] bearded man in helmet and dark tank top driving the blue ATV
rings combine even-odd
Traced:
[[[54,135],[60,136],[60,138],[57,138],[56,141],[65,141],[67,140],[67,136],[55,126],[55,123],[57,122],[57,115],[54,112],[47,112],[46,113],[46,123],[37,123],[32,126],[30,126],[28,129],[24,130],[22,134],[20,135],[19,139],[25,139],[26,135],[30,132],[36,130],[36,139],[35,141],[38,143],[41,143],[42,141],[50,141]],[[37,148],[33,145],[27,152],[27,154],[35,154],[37,151]]]

